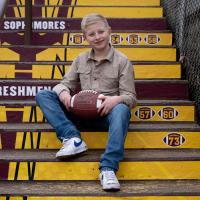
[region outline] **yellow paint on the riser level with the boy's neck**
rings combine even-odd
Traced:
[[[131,61],[176,61],[176,49],[175,48],[117,48],[119,51],[128,56]],[[56,55],[59,56],[61,61],[64,61],[65,54],[67,61],[73,61],[81,52],[89,50],[87,48],[49,48],[36,55],[36,61],[55,61]],[[1,49],[2,54],[0,60],[5,60],[4,55],[8,53],[7,48]],[[8,57],[8,60],[19,60],[19,57]]]

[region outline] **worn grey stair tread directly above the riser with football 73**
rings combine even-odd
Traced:
[[[1,133],[7,133],[12,131],[21,132],[21,131],[43,131],[43,132],[52,132],[55,129],[48,123],[0,123],[0,131]],[[130,123],[129,131],[194,131],[199,132],[200,126],[197,123]]]

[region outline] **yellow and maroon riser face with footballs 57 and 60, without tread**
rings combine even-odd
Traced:
[[[39,107],[8,105],[0,106],[0,122],[43,122],[44,118]],[[131,121],[137,122],[194,122],[194,106],[137,106],[132,109]]]

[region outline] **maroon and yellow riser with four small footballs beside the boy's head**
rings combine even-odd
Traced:
[[[32,35],[32,44],[34,45],[47,45],[48,40],[42,40],[40,35],[51,35],[53,38],[57,38],[60,41],[60,38],[63,38],[62,45],[88,45],[84,40],[81,33],[33,33]],[[9,45],[6,41],[10,41],[12,45],[23,45],[24,44],[24,33],[0,33],[1,45]],[[12,40],[11,40],[12,38]],[[69,38],[69,39],[68,39]],[[51,42],[51,41],[50,41]],[[113,45],[172,45],[172,34],[171,33],[156,33],[156,32],[147,32],[147,33],[115,33],[111,35],[111,43]],[[51,43],[49,44],[51,45]],[[59,44],[58,44],[59,45]]]

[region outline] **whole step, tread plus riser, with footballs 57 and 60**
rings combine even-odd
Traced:
[[[44,122],[35,101],[0,101],[0,122]],[[132,109],[134,122],[194,122],[195,106],[191,101],[138,101]]]

